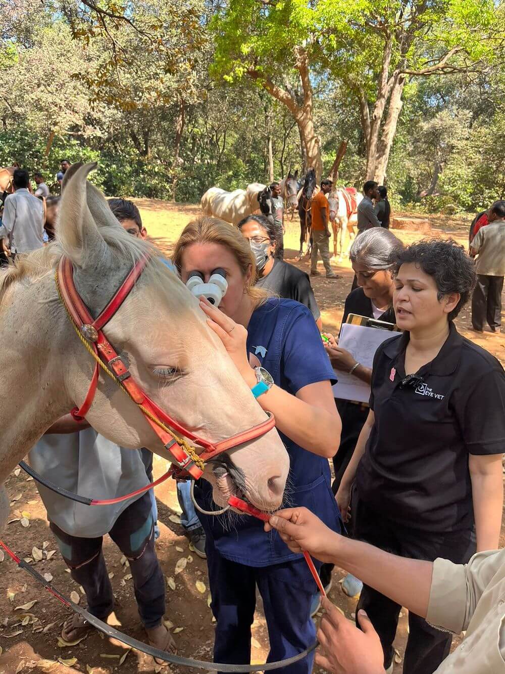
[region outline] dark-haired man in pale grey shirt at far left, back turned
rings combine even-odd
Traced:
[[[8,239],[11,253],[27,253],[44,245],[44,204],[30,194],[30,176],[24,168],[13,175],[14,193],[5,197],[0,239]]]

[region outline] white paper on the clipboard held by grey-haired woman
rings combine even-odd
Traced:
[[[375,352],[380,344],[385,342],[386,339],[391,339],[395,334],[397,333],[390,330],[378,330],[378,328],[344,323],[340,332],[339,346],[349,351],[358,363],[365,367],[372,367]],[[337,384],[331,387],[335,398],[368,402],[370,399],[370,386],[368,384],[354,375],[347,374],[347,372],[335,370],[335,374],[339,380]]]

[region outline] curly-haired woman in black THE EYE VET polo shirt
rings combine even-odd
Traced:
[[[475,534],[477,551],[498,547],[505,373],[452,322],[475,284],[459,245],[415,243],[395,255],[395,269],[393,306],[405,332],[377,350],[370,414],[337,501],[345,518],[354,483],[357,538],[404,557],[464,563]],[[380,636],[388,669],[401,607],[365,585],[358,608]],[[450,642],[410,613],[405,673],[433,672]]]

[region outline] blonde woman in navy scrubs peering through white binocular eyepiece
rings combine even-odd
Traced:
[[[338,531],[328,458],[339,444],[340,419],[331,392],[333,370],[312,314],[298,302],[269,298],[254,286],[255,256],[238,229],[222,220],[203,217],[190,222],[176,243],[172,262],[183,282],[193,271],[201,272],[205,282],[217,268],[226,272],[228,290],[219,307],[201,301],[207,323],[221,338],[251,395],[275,415],[290,454],[289,502],[307,505]],[[216,464],[216,479],[222,470]],[[201,481],[195,487],[195,498],[203,510],[215,510],[209,483]],[[200,517],[217,621],[214,660],[250,663],[257,587],[269,630],[269,660],[288,658],[310,646],[315,640],[310,602],[316,586],[303,557],[291,553],[277,534],[265,534],[263,522],[255,518]],[[308,674],[312,663],[309,655],[284,669],[287,674]]]

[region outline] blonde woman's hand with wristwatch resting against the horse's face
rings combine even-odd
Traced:
[[[250,387],[255,386],[255,371],[250,367],[247,357],[247,330],[221,309],[211,305],[205,297],[200,297],[200,307],[207,314],[207,324],[223,342],[242,377]]]

